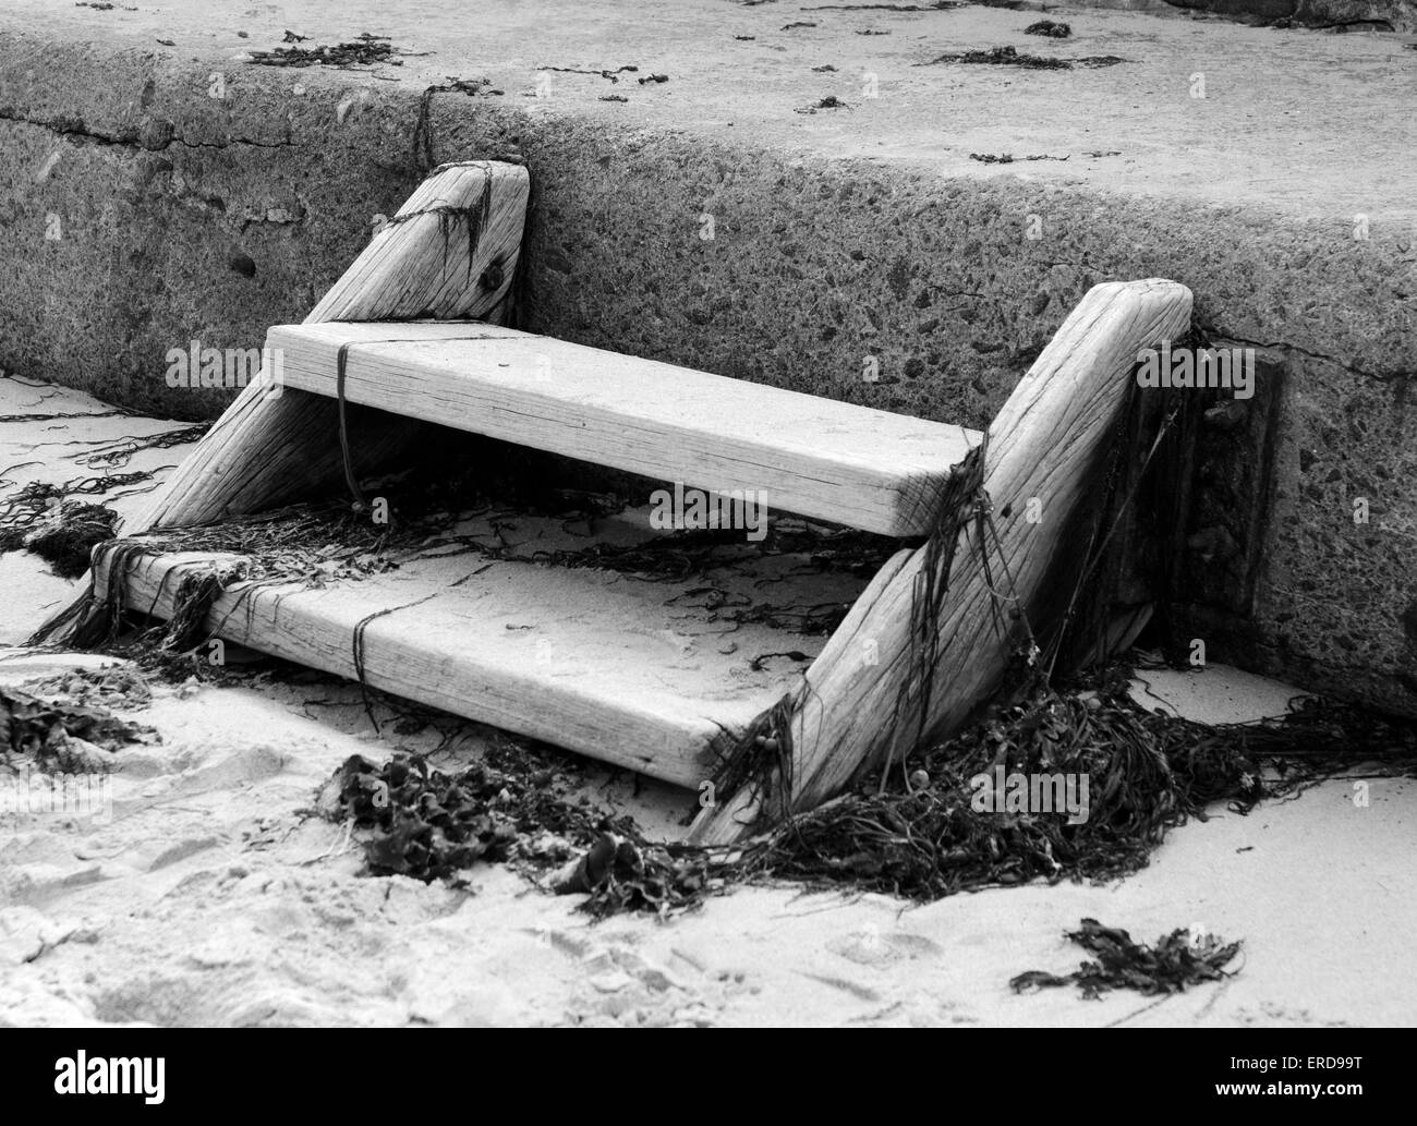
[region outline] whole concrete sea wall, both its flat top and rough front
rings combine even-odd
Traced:
[[[169,388],[169,348],[259,346],[429,163],[513,153],[534,181],[526,327],[973,426],[1088,286],[1169,276],[1284,373],[1260,426],[1272,497],[1236,548],[1253,596],[1196,608],[1210,657],[1417,711],[1417,55],[1183,16],[1063,8],[1054,41],[1022,34],[1036,13],[803,7],[11,1],[0,364],[210,415],[230,392]],[[427,54],[242,61],[285,28]],[[1127,62],[918,65],[998,45]],[[599,75],[619,67],[639,69]],[[449,75],[490,86],[425,95]],[[849,108],[798,112],[828,96]],[[1221,565],[1193,531],[1187,565]]]

